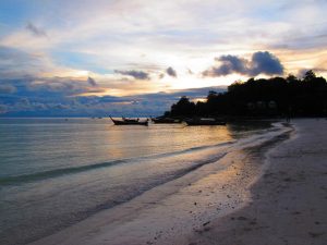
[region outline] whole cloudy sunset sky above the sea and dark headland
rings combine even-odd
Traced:
[[[149,115],[250,77],[327,77],[327,0],[1,0],[0,115]]]

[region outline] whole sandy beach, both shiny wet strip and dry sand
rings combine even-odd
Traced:
[[[326,244],[326,136],[323,119],[280,124],[33,244]]]

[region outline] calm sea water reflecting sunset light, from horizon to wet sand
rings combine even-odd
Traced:
[[[267,125],[0,119],[0,244],[25,244],[216,161]]]

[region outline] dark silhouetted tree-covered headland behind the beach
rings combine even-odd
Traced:
[[[250,78],[238,81],[225,93],[210,90],[205,102],[183,96],[166,111],[167,118],[194,117],[326,117],[327,83],[313,71],[303,78]]]

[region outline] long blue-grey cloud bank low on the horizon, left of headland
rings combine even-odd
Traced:
[[[3,79],[0,79],[0,84],[1,82]],[[55,77],[11,81],[11,83],[17,91],[0,96],[0,113],[5,117],[159,115],[169,110],[181,96],[199,98],[206,97],[209,90],[226,90],[226,87],[207,87],[123,97],[97,97],[76,94],[93,89],[85,81]]]

